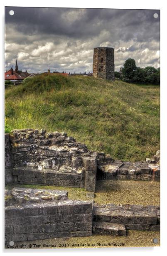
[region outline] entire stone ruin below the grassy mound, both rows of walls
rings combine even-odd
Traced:
[[[114,160],[88,150],[66,133],[21,129],[5,134],[5,183],[81,187],[96,180],[160,180],[160,151],[141,162]],[[93,204],[69,200],[66,191],[13,188],[5,191],[5,236],[9,241],[160,230],[160,207]],[[29,225],[27,225],[29,223]]]

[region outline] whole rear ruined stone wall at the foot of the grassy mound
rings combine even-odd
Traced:
[[[6,183],[81,187],[95,192],[96,179],[160,180],[160,151],[153,159],[123,162],[88,150],[66,133],[22,129],[6,138]]]

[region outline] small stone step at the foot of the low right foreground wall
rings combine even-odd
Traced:
[[[126,236],[125,225],[110,222],[93,222],[93,233],[111,236]]]

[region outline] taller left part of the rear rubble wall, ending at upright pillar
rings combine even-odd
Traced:
[[[47,133],[43,129],[13,130],[9,138],[14,167],[6,171],[7,183],[87,187],[95,191],[96,153],[86,145],[66,133]]]

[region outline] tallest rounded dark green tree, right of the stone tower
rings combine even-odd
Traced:
[[[126,59],[125,63],[123,64],[123,78],[128,80],[133,80],[135,76],[135,71],[137,69],[135,59]]]

